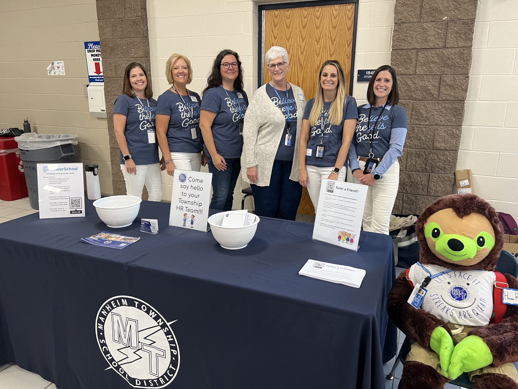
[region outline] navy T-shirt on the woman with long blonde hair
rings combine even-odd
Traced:
[[[310,99],[306,104],[304,110],[303,119],[309,119],[311,108],[313,107],[315,99]],[[356,99],[352,96],[346,96],[346,103],[343,106],[342,121],[340,124],[332,126],[328,122],[329,109],[331,108],[332,102],[324,102],[324,132],[322,133],[322,117],[313,125],[310,125],[309,135],[310,140],[308,142],[308,149],[311,149],[311,156],[306,154],[306,164],[310,166],[316,166],[318,168],[329,168],[334,166],[336,159],[338,158],[338,152],[342,147],[342,133],[343,133],[343,122],[348,119],[358,118],[358,108],[356,106]],[[321,136],[324,136],[322,144],[325,146],[324,158],[316,158],[316,146],[320,145]],[[347,164],[347,158],[344,165]]]

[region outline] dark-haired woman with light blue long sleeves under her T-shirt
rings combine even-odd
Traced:
[[[399,186],[399,162],[407,136],[405,108],[398,105],[394,68],[383,65],[372,75],[367,104],[358,107],[358,124],[349,149],[353,182],[368,185],[363,214],[365,231],[389,234],[390,215]]]

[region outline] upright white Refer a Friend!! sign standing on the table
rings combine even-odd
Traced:
[[[366,185],[323,179],[313,239],[358,251]]]

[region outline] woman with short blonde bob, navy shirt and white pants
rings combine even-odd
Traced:
[[[193,79],[191,61],[174,53],[165,65],[165,75],[171,87],[156,103],[156,133],[164,156],[167,174],[175,169],[199,172],[207,163],[202,155],[203,138],[199,129],[199,94],[187,86]]]

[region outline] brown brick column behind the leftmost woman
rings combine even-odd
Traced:
[[[139,62],[151,82],[148,17],[146,0],[96,0],[97,25],[103,54],[104,91],[110,137],[113,194],[125,195],[126,186],[120,169],[119,146],[113,132],[113,102],[122,91],[124,70],[128,63]],[[142,199],[147,200],[146,188]]]

